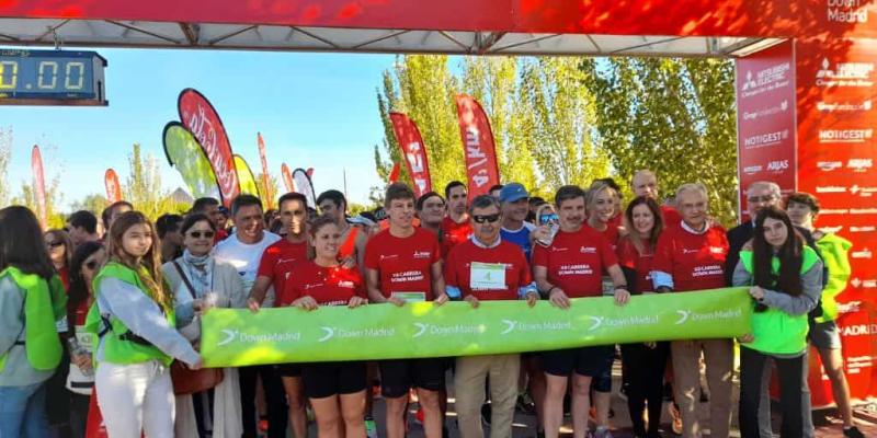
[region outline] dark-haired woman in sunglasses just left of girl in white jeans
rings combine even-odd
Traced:
[[[86,436],[89,399],[94,387],[92,369],[92,336],[86,332],[86,316],[93,297],[91,281],[103,263],[105,252],[99,242],[84,242],[73,251],[70,263],[70,287],[67,290],[67,347],[70,367],[67,372],[67,390],[70,395],[70,436]]]

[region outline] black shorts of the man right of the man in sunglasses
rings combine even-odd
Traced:
[[[543,353],[542,368],[551,376],[560,377],[567,377],[572,372],[591,378],[610,376],[610,383],[612,383],[611,373],[614,359],[614,345],[556,349]]]

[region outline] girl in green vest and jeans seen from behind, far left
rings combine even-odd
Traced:
[[[66,303],[34,214],[0,210],[0,437],[48,436],[45,382],[61,359]]]

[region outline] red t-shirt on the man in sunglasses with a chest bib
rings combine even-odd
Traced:
[[[503,265],[504,285],[497,288],[490,283],[472,284],[472,262]],[[499,280],[497,286],[499,285]],[[529,265],[521,246],[501,241],[496,247],[480,247],[471,240],[454,246],[445,265],[445,283],[463,291],[463,296],[474,295],[479,300],[516,300],[517,289],[533,283]]]

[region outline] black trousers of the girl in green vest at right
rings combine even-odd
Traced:
[[[759,403],[761,381],[768,356],[751,348],[740,348],[740,436],[760,438]],[[805,356],[795,358],[772,357],[779,378],[779,411],[783,414],[782,438],[804,436],[801,412],[801,373]]]

